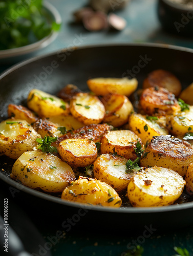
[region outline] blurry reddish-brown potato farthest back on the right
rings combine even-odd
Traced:
[[[143,81],[144,89],[156,86],[167,89],[175,96],[178,96],[182,90],[179,79],[172,73],[162,69],[154,70],[149,73],[147,78]]]

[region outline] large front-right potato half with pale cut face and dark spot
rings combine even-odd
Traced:
[[[128,183],[127,195],[135,207],[170,205],[181,196],[185,184],[174,170],[155,166],[134,175]]]

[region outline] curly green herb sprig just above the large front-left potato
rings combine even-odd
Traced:
[[[57,153],[57,148],[55,146],[51,146],[53,142],[57,140],[57,137],[47,137],[45,135],[44,139],[37,138],[36,141],[39,144],[38,149],[42,152],[48,152],[48,153]]]

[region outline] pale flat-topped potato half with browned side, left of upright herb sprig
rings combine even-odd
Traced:
[[[118,155],[135,160],[137,158],[135,148],[137,141],[142,145],[141,139],[132,131],[109,131],[101,139],[101,154],[117,153]]]

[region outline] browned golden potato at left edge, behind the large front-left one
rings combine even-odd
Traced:
[[[20,119],[7,119],[0,123],[0,154],[17,159],[26,151],[33,151],[40,135]]]

